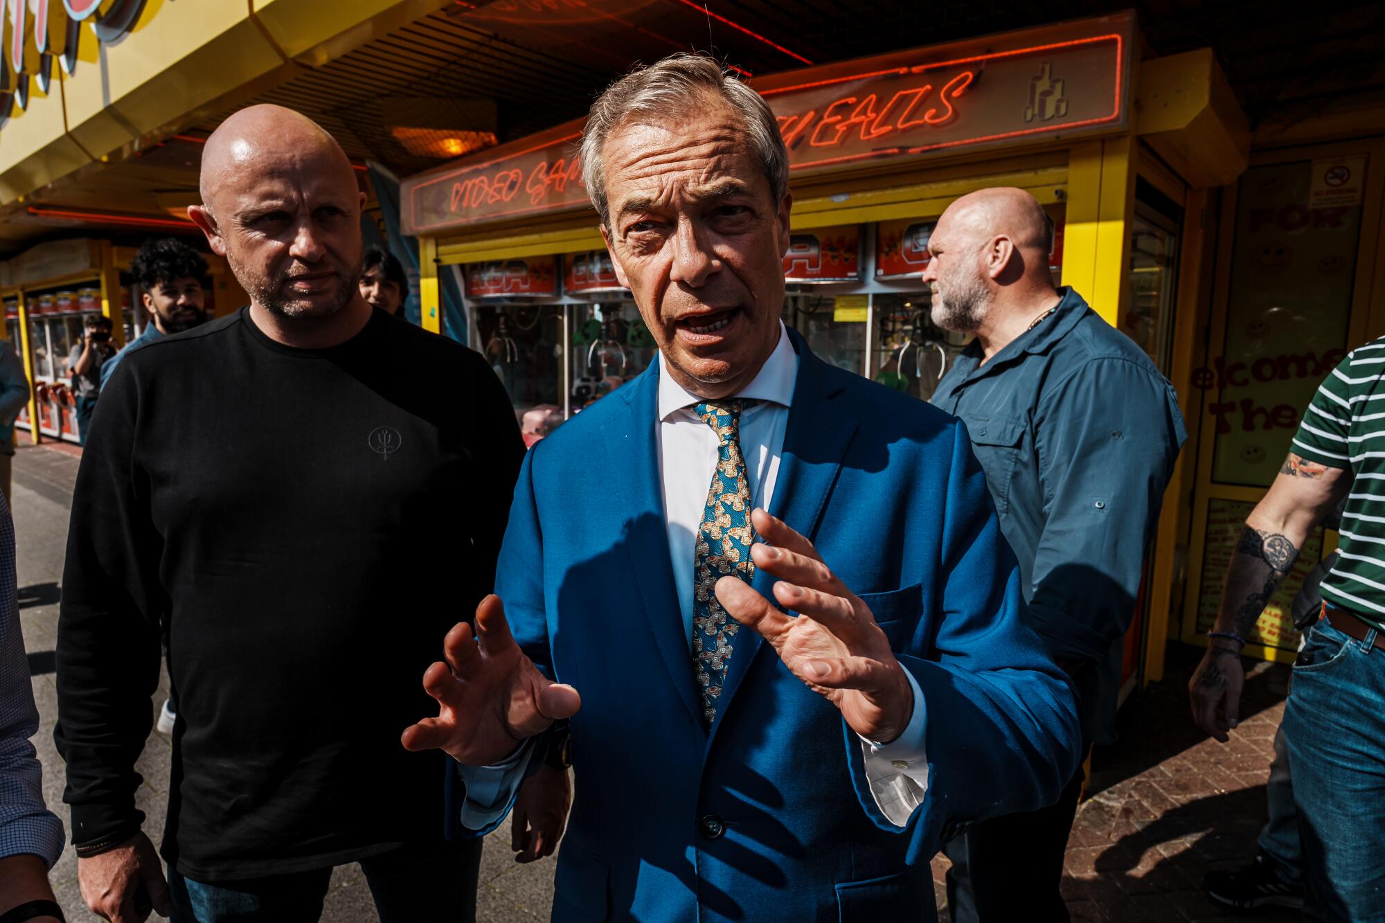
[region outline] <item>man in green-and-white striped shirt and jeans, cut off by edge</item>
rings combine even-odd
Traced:
[[[1319,387],[1294,446],[1237,542],[1216,628],[1190,685],[1217,740],[1237,726],[1241,647],[1312,531],[1346,499],[1323,617],[1294,664],[1284,714],[1307,901],[1330,920],[1385,920],[1385,338]]]

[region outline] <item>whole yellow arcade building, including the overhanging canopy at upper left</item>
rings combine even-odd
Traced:
[[[51,237],[61,220],[89,241],[65,243],[48,262],[12,256],[0,288],[14,302],[11,340],[51,389],[61,376],[40,374],[37,351],[54,312],[30,295],[55,304],[58,291],[86,291],[86,301],[73,295],[82,306],[98,302],[115,316],[129,292],[129,249],[100,222],[125,231],[168,222],[147,229],[186,233],[179,209],[195,201],[187,158],[226,112],[280,101],[341,133],[356,130],[350,112],[320,103],[337,87],[360,98],[400,94],[410,80],[461,86],[485,68],[479,97],[499,86],[504,64],[486,29],[511,42],[511,61],[557,68],[524,58],[514,42],[529,33],[506,29],[537,35],[539,15],[580,6],[587,17],[602,4],[147,0],[132,12],[105,0],[86,18],[73,15],[82,4],[51,4],[43,33],[61,39],[47,51],[33,37],[40,6],[25,7],[18,57],[14,24],[6,30],[7,61],[18,64],[0,87],[11,96],[0,125],[0,216],[10,227],[0,243],[37,251],[29,240]],[[476,17],[485,29],[468,32]],[[1055,219],[1055,277],[1174,384],[1190,441],[1150,552],[1127,689],[1163,676],[1169,640],[1202,643],[1240,522],[1277,473],[1313,388],[1346,349],[1385,333],[1385,273],[1375,270],[1385,258],[1385,100],[1345,86],[1339,98],[1262,107],[1252,121],[1223,57],[1215,46],[1159,54],[1136,15],[1115,12],[866,58],[785,60],[748,78],[791,147],[784,316],[814,351],[927,399],[963,345],[928,322],[918,273],[931,222],[957,195],[1004,184],[1032,191]],[[589,98],[600,89],[582,87]],[[580,413],[654,355],[586,204],[579,133],[580,119],[554,119],[413,172],[400,190],[399,219],[418,241],[424,326],[440,331],[439,280],[452,274],[468,327],[453,333],[490,359],[517,413],[547,414],[546,425]],[[463,134],[443,137],[443,150]],[[162,173],[143,166],[176,151],[187,162]],[[357,157],[352,144],[348,152]],[[159,184],[175,175],[183,188]],[[219,310],[241,297],[217,267]],[[42,345],[51,363],[57,346]],[[35,403],[29,419],[42,424],[43,413]],[[1334,535],[1306,549],[1248,653],[1292,658],[1288,601]]]

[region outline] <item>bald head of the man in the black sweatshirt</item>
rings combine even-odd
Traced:
[[[360,301],[364,195],[341,146],[312,119],[252,105],[202,148],[202,204],[188,216],[253,305],[312,323]]]

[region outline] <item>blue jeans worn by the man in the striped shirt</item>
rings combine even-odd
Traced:
[[[1385,923],[1385,651],[1325,621],[1307,632],[1284,711],[1307,905]]]

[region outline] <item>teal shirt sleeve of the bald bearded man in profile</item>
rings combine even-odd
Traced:
[[[1036,414],[1044,525],[1029,618],[1054,657],[1094,661],[1130,628],[1183,414],[1168,381],[1122,358],[1084,363]]]

